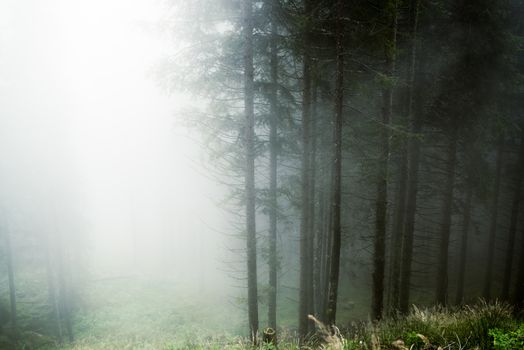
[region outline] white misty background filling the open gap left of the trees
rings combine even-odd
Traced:
[[[88,278],[166,274],[216,288],[226,285],[223,193],[177,112],[188,98],[155,82],[169,47],[161,10],[147,0],[0,3],[2,225],[85,240]]]

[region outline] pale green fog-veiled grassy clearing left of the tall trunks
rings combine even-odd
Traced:
[[[90,288],[75,315],[75,342],[61,349],[182,349],[230,342],[242,310],[216,291],[122,278]]]

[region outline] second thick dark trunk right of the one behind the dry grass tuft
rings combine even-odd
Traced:
[[[414,110],[415,104],[415,72],[417,69],[417,28],[419,16],[419,0],[410,3],[411,20],[411,62],[409,77],[408,117],[411,135],[408,139],[408,182],[406,189],[406,213],[404,222],[404,234],[402,236],[402,250],[400,261],[400,288],[398,297],[399,310],[407,313],[411,292],[411,262],[413,260],[413,237],[415,230],[415,214],[417,210],[418,168],[420,158],[420,141],[418,134],[421,130],[418,108]],[[417,106],[420,102],[417,101]]]

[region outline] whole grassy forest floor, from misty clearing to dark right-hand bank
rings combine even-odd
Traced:
[[[151,291],[149,300],[141,299],[134,306],[132,293],[126,294],[127,300],[125,295],[115,294],[106,307],[91,310],[89,318],[77,321],[74,344],[53,349],[252,349],[245,337],[235,335],[240,334],[245,320],[234,306],[212,298],[200,303],[193,298],[173,302],[166,294],[156,293]],[[209,308],[203,307],[206,305]],[[230,307],[233,309],[228,310]],[[214,316],[210,318],[211,314]],[[280,350],[299,349],[292,332],[286,328],[279,332]],[[317,337],[317,342],[301,349],[524,349],[524,323],[515,318],[509,306],[500,303],[478,302],[456,309],[414,308],[408,316],[376,324],[354,322],[341,334],[335,337],[333,347],[322,347],[325,337]],[[275,348],[262,345],[259,349]]]

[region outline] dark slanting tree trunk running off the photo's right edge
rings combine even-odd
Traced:
[[[508,249],[504,266],[504,280],[502,282],[502,300],[509,300],[509,288],[511,284],[511,270],[513,268],[513,255],[515,252],[515,236],[517,233],[517,221],[519,218],[520,195],[522,178],[524,177],[524,128],[520,138],[519,159],[517,163],[517,178],[515,179],[515,192],[511,203],[511,218],[508,235]]]

